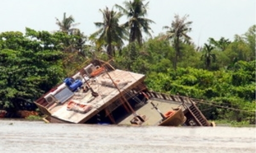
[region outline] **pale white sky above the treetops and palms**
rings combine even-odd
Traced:
[[[102,21],[99,9],[114,4],[123,6],[124,0],[1,0],[0,32],[20,31],[25,28],[36,31],[55,31],[57,17],[62,20],[63,13],[72,15],[75,23],[87,36],[97,29],[94,22]],[[148,2],[148,1],[145,1]],[[174,19],[175,14],[188,14],[192,32],[188,35],[195,44],[206,43],[209,37],[219,40],[225,37],[233,40],[234,35],[244,34],[255,24],[255,0],[151,0],[147,18],[156,22],[151,24],[153,36],[164,32],[163,26]],[[123,23],[126,17],[123,17]]]

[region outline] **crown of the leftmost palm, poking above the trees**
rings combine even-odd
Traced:
[[[60,21],[58,18],[56,18],[56,24],[59,26],[59,29],[61,32],[65,32],[68,34],[72,34],[77,31],[75,27],[76,25],[80,23],[74,23],[75,19],[72,15],[69,17],[66,17],[66,13],[63,14],[63,19]]]

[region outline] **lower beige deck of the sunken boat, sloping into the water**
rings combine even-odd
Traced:
[[[157,105],[157,108],[160,110],[162,114],[172,110],[173,108],[177,108],[181,106],[181,102],[179,101],[172,101],[172,100],[164,100],[159,98],[150,98],[147,100],[147,103],[142,107],[136,109],[136,113],[139,115],[145,115],[146,121],[143,122],[143,125],[158,125],[161,121],[162,117],[158,113],[158,111],[153,108],[151,102]],[[183,107],[182,107],[183,109]],[[134,115],[131,114],[129,116],[125,116],[123,119],[120,119],[118,124],[120,125],[129,125],[131,124],[131,120],[134,118]]]

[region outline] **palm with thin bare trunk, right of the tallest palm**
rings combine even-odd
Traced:
[[[177,68],[178,56],[180,55],[181,43],[189,43],[191,39],[187,33],[191,31],[189,28],[192,21],[187,21],[188,15],[180,18],[179,15],[175,15],[175,20],[172,21],[170,27],[164,26],[163,29],[167,29],[166,34],[161,36],[160,39],[172,40],[172,43],[175,47],[175,59],[174,59],[174,69]]]

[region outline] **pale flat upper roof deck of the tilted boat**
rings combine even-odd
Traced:
[[[129,71],[123,71],[116,69],[108,72],[110,77],[116,82],[121,93],[131,90],[138,83],[141,83],[145,79],[144,74],[133,73]],[[109,75],[105,73],[100,74],[96,78],[91,78],[88,83],[94,92],[98,93],[97,97],[92,96],[92,92],[82,92],[82,90],[75,92],[74,95],[60,104],[54,104],[48,108],[48,111],[53,117],[58,119],[73,122],[84,123],[99,111],[103,110],[115,100],[121,97],[120,92],[112,84]],[[87,113],[79,113],[77,111],[67,110],[68,101],[75,101],[79,104],[91,105],[92,109]]]

